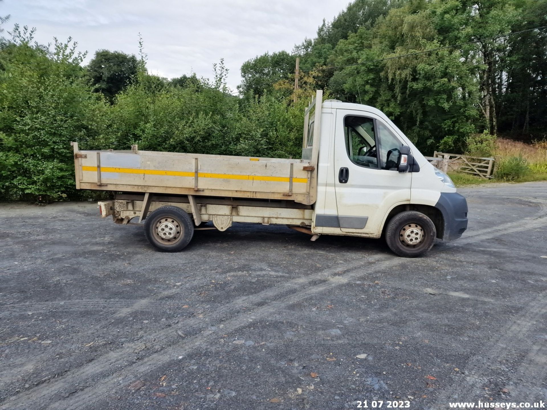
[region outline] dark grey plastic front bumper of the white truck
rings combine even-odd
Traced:
[[[441,192],[435,208],[443,214],[444,231],[441,239],[453,241],[467,229],[467,201],[457,192]]]

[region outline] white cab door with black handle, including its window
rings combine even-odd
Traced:
[[[397,169],[401,145],[375,114],[336,110],[335,193],[342,232],[380,236],[386,213],[410,202],[412,174]]]

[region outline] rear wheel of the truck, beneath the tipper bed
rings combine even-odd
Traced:
[[[177,207],[161,207],[146,218],[144,231],[148,242],[162,252],[184,249],[194,236],[194,221]]]

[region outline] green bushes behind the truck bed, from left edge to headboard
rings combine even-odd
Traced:
[[[90,81],[96,65],[91,71],[80,66],[84,55],[75,52],[75,44],[56,42],[50,50],[33,44],[26,28],[15,27],[11,34],[0,45],[3,198],[77,198],[71,141],[81,149],[127,149],[137,143],[159,151],[300,155],[305,99],[288,104],[280,93],[266,93],[243,101],[226,87],[222,60],[213,65],[212,81],[195,75],[167,81],[149,75],[142,56],[110,104],[107,91],[119,77]],[[92,62],[104,62],[105,55],[112,57],[101,52]],[[125,71],[117,61],[113,66]],[[108,73],[102,68],[98,71]],[[102,92],[96,92],[97,85]]]

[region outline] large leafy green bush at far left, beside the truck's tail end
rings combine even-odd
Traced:
[[[62,45],[56,49],[62,52]],[[70,143],[78,141],[83,149],[100,145],[106,105],[85,84],[81,60],[61,52],[26,43],[0,49],[0,194],[5,199],[79,198]]]

